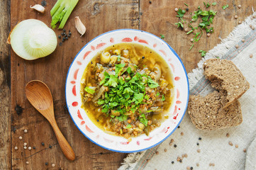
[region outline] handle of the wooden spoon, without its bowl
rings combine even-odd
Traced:
[[[59,142],[59,145],[60,145],[60,148],[62,149],[63,154],[65,154],[65,157],[67,157],[67,159],[69,159],[70,161],[74,161],[74,159],[76,157],[74,154],[74,151],[73,151],[72,147],[70,147],[66,138],[62,135],[62,132],[60,131],[59,127],[57,126],[56,121],[53,121],[50,124],[52,125],[52,128],[55,132],[57,141]]]

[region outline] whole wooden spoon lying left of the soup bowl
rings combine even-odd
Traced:
[[[74,161],[74,151],[57,126],[53,111],[52,94],[50,93],[48,86],[39,80],[30,81],[26,85],[26,96],[32,106],[34,106],[34,108],[49,121],[50,125],[52,125],[57,141],[59,142],[60,148],[62,149],[63,154],[65,154],[65,157]]]

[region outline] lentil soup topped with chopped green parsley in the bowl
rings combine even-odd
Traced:
[[[82,108],[97,127],[112,135],[149,135],[169,116],[173,82],[165,60],[149,47],[111,45],[84,70]]]

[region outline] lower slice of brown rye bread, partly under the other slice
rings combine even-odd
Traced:
[[[190,96],[188,113],[192,123],[200,130],[218,130],[240,125],[243,116],[239,101],[220,109],[221,93],[213,91],[207,96]]]

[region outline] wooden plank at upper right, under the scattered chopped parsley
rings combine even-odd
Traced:
[[[185,6],[184,2],[189,6]],[[207,2],[207,1],[205,1]],[[191,72],[197,63],[201,60],[201,54],[199,50],[208,51],[221,42],[221,39],[226,38],[227,35],[238,25],[238,21],[243,21],[247,16],[252,14],[252,6],[256,9],[255,1],[253,0],[227,0],[227,1],[208,1],[210,4],[216,2],[216,6],[208,8],[217,11],[216,17],[213,20],[214,33],[210,36],[206,36],[204,31],[199,42],[194,43],[194,47],[189,51],[192,45],[190,41],[194,35],[184,32],[184,30],[178,29],[175,23],[179,22],[177,18],[177,12],[174,8],[189,8],[189,11],[184,15],[184,19],[191,21],[191,15],[194,13],[198,6],[206,10],[204,1],[175,1],[175,0],[158,0],[152,1],[140,1],[140,13],[143,15],[140,17],[140,29],[146,30],[150,33],[160,36],[165,35],[165,41],[172,46],[182,59],[187,72]],[[229,7],[223,10],[222,6],[228,4]],[[238,8],[238,5],[242,5],[242,8]],[[234,16],[238,15],[238,19]],[[199,22],[197,22],[197,25]],[[196,26],[196,25],[194,25]],[[187,24],[184,24],[184,28],[188,28]],[[190,30],[190,29],[189,29]]]

